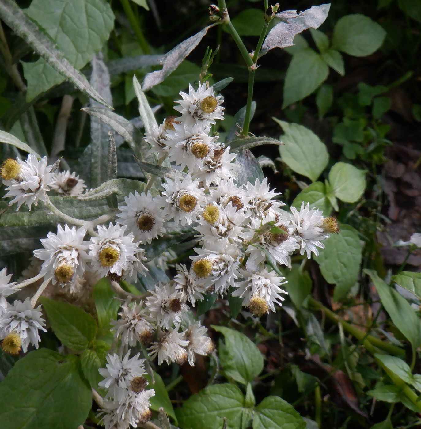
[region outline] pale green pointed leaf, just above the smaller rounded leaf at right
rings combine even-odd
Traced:
[[[329,161],[326,145],[311,130],[273,118],[284,130],[279,146],[282,161],[295,172],[315,182]]]

